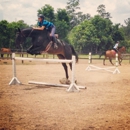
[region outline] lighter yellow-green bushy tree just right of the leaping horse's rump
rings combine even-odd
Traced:
[[[91,21],[85,20],[71,30],[68,39],[69,42],[80,52],[85,46],[91,46],[93,43],[100,42],[96,37],[95,32],[95,27]]]

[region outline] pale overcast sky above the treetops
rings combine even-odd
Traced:
[[[45,4],[57,8],[65,8],[68,0],[0,0],[0,20],[9,22],[24,20],[25,23],[36,24],[37,10]],[[130,17],[130,0],[80,0],[81,11],[97,14],[100,4],[106,6],[106,11],[111,13],[113,23],[124,24]]]

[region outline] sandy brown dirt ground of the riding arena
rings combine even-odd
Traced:
[[[60,64],[17,63],[23,85],[9,86],[12,66],[0,61],[0,130],[130,130],[130,64],[121,74],[85,71],[86,60],[76,65],[78,84],[86,90],[29,85],[29,80],[59,83]],[[102,66],[102,61],[93,61]],[[107,61],[107,67],[111,66]],[[70,73],[70,71],[69,71]]]

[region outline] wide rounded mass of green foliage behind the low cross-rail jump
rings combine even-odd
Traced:
[[[94,47],[96,52],[112,49],[117,40],[124,40],[119,25],[113,25],[109,19],[104,19],[99,15],[74,27],[68,37],[77,50],[80,51],[88,46],[90,49]]]

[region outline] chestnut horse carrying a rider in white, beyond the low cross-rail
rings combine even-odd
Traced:
[[[122,47],[118,47],[118,61],[119,61],[119,64],[121,65],[121,62],[122,62],[122,56],[121,54],[124,53],[126,51],[126,48],[124,46]],[[112,59],[116,57],[116,52],[115,50],[107,50],[103,53],[100,54],[99,58],[101,58],[101,56],[104,55],[105,58],[103,59],[103,64],[105,65],[105,60],[107,58],[109,58],[109,61],[112,65],[114,65],[112,63]]]

